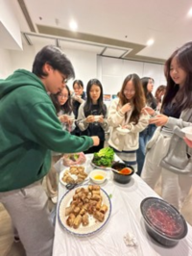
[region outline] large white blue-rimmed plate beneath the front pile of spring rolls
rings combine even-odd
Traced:
[[[93,218],[93,216],[89,216],[89,224],[87,226],[83,226],[82,224],[79,226],[78,229],[74,229],[72,227],[69,227],[66,224],[66,219],[68,217],[65,217],[65,208],[70,205],[70,202],[73,198],[73,195],[75,194],[75,191],[77,188],[87,188],[87,186],[79,186],[73,189],[72,191],[66,192],[62,198],[60,199],[60,205],[59,205],[59,211],[58,211],[58,218],[60,221],[60,225],[68,232],[80,236],[85,237],[89,235],[93,235],[95,232],[101,230],[105,224],[108,222],[108,218],[111,214],[111,202],[110,198],[108,197],[108,193],[105,192],[103,189],[101,189],[101,195],[103,197],[103,204],[106,204],[108,206],[108,212],[105,215],[105,220],[103,222],[100,222],[99,220],[96,220]]]

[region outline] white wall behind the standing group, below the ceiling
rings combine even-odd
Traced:
[[[43,44],[36,44],[36,46],[24,45],[23,51],[0,49],[1,76],[6,77],[18,68],[32,70],[36,53],[43,46]],[[121,89],[125,77],[131,73],[137,73],[140,77],[153,77],[156,82],[154,92],[159,85],[166,85],[163,64],[101,57],[97,56],[96,53],[80,50],[65,49],[64,53],[74,65],[76,79],[81,79],[84,82],[84,88],[86,88],[90,79],[98,78],[102,82],[105,94],[116,94]],[[73,81],[68,82],[71,89],[72,83]]]

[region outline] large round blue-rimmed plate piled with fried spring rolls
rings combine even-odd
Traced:
[[[60,200],[60,225],[77,236],[88,236],[108,222],[111,203],[99,185],[84,185],[66,192]]]

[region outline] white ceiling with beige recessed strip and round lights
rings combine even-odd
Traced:
[[[54,43],[116,58],[164,63],[192,40],[190,0],[12,1],[23,42]],[[72,32],[69,21],[78,23]],[[154,44],[147,46],[153,38]]]

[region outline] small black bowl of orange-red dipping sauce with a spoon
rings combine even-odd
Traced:
[[[111,166],[113,179],[121,184],[127,184],[131,181],[134,169],[124,163],[116,162]]]

